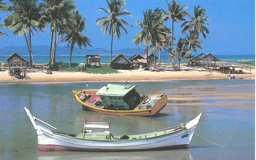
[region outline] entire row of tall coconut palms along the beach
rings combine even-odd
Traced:
[[[116,35],[118,39],[121,38],[120,30],[128,34],[125,26],[133,26],[122,17],[132,17],[132,15],[124,7],[125,0],[106,0],[106,3],[106,9],[99,8],[100,11],[105,12],[106,16],[99,17],[96,20],[96,25],[99,24],[100,30],[103,30],[103,36],[106,32],[111,36],[110,59],[112,60],[113,37]],[[142,43],[145,45],[147,66],[148,53],[154,51],[156,56],[156,52],[158,52],[160,64],[160,51],[164,49],[170,54],[172,64],[174,64],[173,58],[177,58],[179,70],[182,58],[186,58],[187,65],[189,65],[192,52],[198,48],[202,49],[203,41],[199,38],[201,36],[206,38],[206,34],[209,33],[206,27],[206,25],[209,25],[207,23],[209,17],[205,16],[206,10],[201,6],[194,6],[193,15],[190,15],[185,11],[188,6],[181,6],[176,0],[172,0],[172,3],[166,0],[166,5],[167,11],[159,8],[143,11],[143,21],[137,20],[134,22],[140,26],[141,30],[131,41],[135,42],[136,47]],[[76,44],[80,49],[81,46],[85,48],[92,47],[90,39],[82,33],[85,32],[86,18],[79,13],[74,0],[42,0],[41,3],[38,3],[37,0],[9,0],[8,2],[0,0],[0,9],[11,12],[4,18],[5,24],[1,24],[0,27],[11,29],[15,35],[24,36],[29,51],[29,67],[32,67],[31,38],[34,33],[38,35],[39,31],[44,32],[47,26],[50,26],[49,35],[51,38],[49,68],[55,65],[56,47],[59,39],[61,42],[67,42],[67,47],[70,47],[70,66],[72,50]],[[186,17],[189,20],[186,20]],[[169,19],[172,20],[172,29],[166,26]],[[185,35],[185,38],[178,38],[175,44],[174,22],[180,23],[181,21],[183,23],[180,27],[183,28],[182,34]],[[6,34],[0,32],[0,35]],[[154,63],[154,67],[155,65],[156,63]]]

